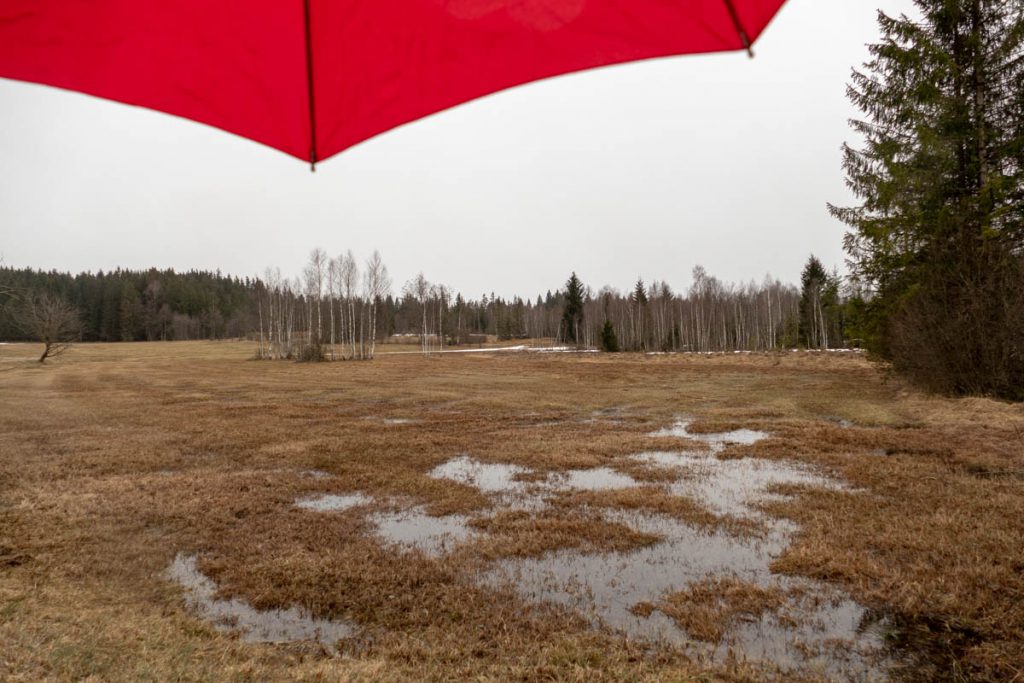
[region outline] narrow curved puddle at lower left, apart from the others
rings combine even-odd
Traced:
[[[336,652],[336,643],[355,633],[355,627],[348,622],[315,618],[299,607],[261,610],[238,598],[219,599],[216,584],[199,570],[195,555],[179,553],[168,567],[167,577],[184,589],[190,609],[219,631],[238,631],[246,642],[314,640]]]

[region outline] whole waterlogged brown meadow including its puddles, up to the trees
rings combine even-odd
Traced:
[[[854,353],[35,350],[0,679],[1024,680],[1020,404]]]

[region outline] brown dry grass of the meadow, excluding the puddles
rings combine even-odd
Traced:
[[[856,493],[795,489],[769,506],[802,527],[774,568],[836,583],[890,614],[894,646],[918,657],[908,676],[1022,676],[1021,405],[906,391],[852,354],[394,355],[307,366],[250,360],[248,344],[195,342],[80,345],[38,368],[34,353],[0,346],[0,679],[772,678],[594,632],[572,613],[531,608],[466,577],[489,557],[650,541],[595,523],[594,506],[721,523],[698,506],[585,494],[526,521],[427,476],[470,454],[541,472],[608,466],[643,478],[626,456],[670,447],[645,434],[678,415],[695,417],[695,431],[772,433],[726,457],[797,459],[849,483]],[[617,421],[592,421],[616,408]],[[302,476],[307,469],[335,477]],[[646,480],[656,486],[657,475]],[[358,514],[292,505],[354,490],[467,514],[494,533],[472,553],[397,556]],[[330,657],[216,632],[161,575],[177,552],[198,553],[225,596],[353,618],[362,634]],[[720,600],[726,588],[717,587]]]

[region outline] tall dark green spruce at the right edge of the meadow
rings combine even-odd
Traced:
[[[853,73],[862,204],[829,209],[873,350],[933,389],[1024,398],[1024,0],[915,4],[879,14]]]

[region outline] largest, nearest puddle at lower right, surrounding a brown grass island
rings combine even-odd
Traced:
[[[872,661],[883,649],[881,635],[862,628],[866,610],[827,587],[773,575],[769,564],[786,546],[793,526],[781,523],[764,539],[737,539],[724,531],[706,532],[676,519],[607,511],[605,518],[664,540],[627,553],[585,554],[559,551],[541,558],[503,560],[485,574],[488,585],[510,585],[531,602],[553,602],[625,633],[635,640],[675,645],[688,654],[724,660],[730,653],[765,660],[783,669],[827,671],[850,676],[878,673]],[[733,575],[758,586],[801,589],[813,598],[786,605],[783,624],[767,612],[755,622],[726,630],[717,644],[692,640],[656,609],[647,616],[633,612],[643,602],[656,604],[671,593],[709,575]],[[842,657],[829,656],[839,645]]]

